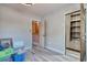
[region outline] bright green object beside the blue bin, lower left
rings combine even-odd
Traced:
[[[13,54],[12,47],[0,51],[0,62],[4,61],[8,56],[11,56],[12,54]]]

